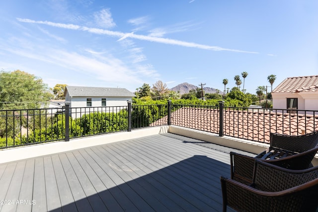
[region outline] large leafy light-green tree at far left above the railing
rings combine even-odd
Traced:
[[[0,72],[0,109],[39,108],[53,95],[41,78],[24,71]]]

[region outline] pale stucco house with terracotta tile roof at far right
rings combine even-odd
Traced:
[[[273,108],[318,110],[318,75],[288,77],[273,91]]]

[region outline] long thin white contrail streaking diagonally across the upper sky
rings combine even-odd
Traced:
[[[74,24],[53,23],[53,22],[49,22],[49,21],[34,21],[34,20],[21,19],[21,18],[18,18],[17,20],[22,21],[22,22],[29,22],[29,23],[46,24],[46,25],[60,27],[60,28],[88,31],[88,32],[95,33],[95,34],[109,35],[109,36],[114,36],[114,37],[119,37],[119,38],[127,35],[127,33],[123,33],[123,32],[110,31],[110,30],[98,29],[98,28],[80,27],[80,26],[74,25]],[[197,43],[180,41],[180,40],[169,39],[169,38],[160,38],[160,37],[138,35],[138,34],[132,34],[132,33],[128,33],[128,34],[129,34],[130,38],[135,38],[138,40],[145,40],[145,41],[150,41],[150,42],[156,42],[156,43],[177,45],[177,46],[183,46],[183,47],[191,47],[191,48],[205,49],[205,50],[212,50],[212,51],[230,51],[230,52],[258,54],[257,52],[250,52],[250,51],[237,50],[237,49],[227,49],[227,48],[222,48],[222,47],[218,47],[218,46],[209,46],[209,45],[197,44]]]

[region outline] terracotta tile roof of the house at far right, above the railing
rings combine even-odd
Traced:
[[[273,93],[298,93],[308,91],[318,91],[318,75],[288,77],[273,90]]]

